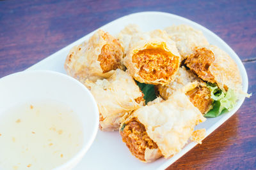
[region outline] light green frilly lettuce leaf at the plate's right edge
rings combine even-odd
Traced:
[[[204,117],[218,117],[236,106],[237,95],[234,90],[228,89],[227,92],[223,92],[216,84],[212,83],[207,83],[207,87],[211,90],[211,98],[214,102],[213,108]]]

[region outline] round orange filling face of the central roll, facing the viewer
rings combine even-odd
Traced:
[[[141,50],[132,56],[132,62],[140,69],[141,78],[148,81],[160,78],[170,81],[179,67],[179,57],[161,48]]]

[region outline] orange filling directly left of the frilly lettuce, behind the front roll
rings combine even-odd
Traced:
[[[205,114],[211,109],[211,91],[207,87],[196,87],[187,92],[186,95],[189,96],[191,103],[193,103],[202,114]]]

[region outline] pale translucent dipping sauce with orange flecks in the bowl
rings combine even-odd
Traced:
[[[65,104],[26,103],[0,115],[0,169],[52,169],[82,143],[82,124]]]

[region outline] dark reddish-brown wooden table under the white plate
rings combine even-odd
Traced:
[[[22,71],[116,18],[164,11],[220,36],[256,90],[256,1],[0,1],[0,78]],[[171,23],[170,23],[171,24]],[[1,94],[0,94],[1,95]],[[256,169],[256,97],[169,169]]]

